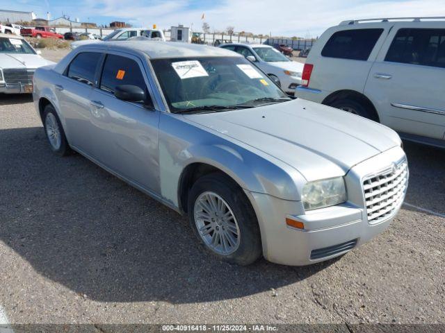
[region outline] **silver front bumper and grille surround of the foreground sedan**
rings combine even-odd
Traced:
[[[345,176],[348,202],[320,210],[305,213],[299,201],[247,192],[257,212],[264,257],[277,264],[315,264],[343,255],[380,234],[394,219],[403,200],[387,219],[371,224],[364,208],[363,180],[404,157],[403,150],[396,147],[357,164]],[[288,217],[302,221],[305,229],[286,225]]]

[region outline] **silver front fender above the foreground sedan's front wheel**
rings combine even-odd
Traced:
[[[161,196],[179,207],[179,187],[186,167],[208,164],[227,173],[240,187],[285,200],[300,200],[305,178],[289,164],[229,137],[161,115],[159,178]],[[189,130],[188,126],[193,126]],[[200,129],[199,129],[200,128]],[[165,132],[166,131],[166,132]],[[181,133],[175,139],[168,133]]]

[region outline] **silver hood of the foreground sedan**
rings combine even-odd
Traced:
[[[344,176],[401,144],[386,126],[302,99],[184,117],[289,164],[307,181]]]

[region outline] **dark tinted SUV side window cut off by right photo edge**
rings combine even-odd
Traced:
[[[400,29],[385,61],[445,68],[445,29]]]

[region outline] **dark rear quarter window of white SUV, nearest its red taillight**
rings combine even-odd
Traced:
[[[327,41],[323,57],[368,60],[383,29],[355,29],[338,31]]]

